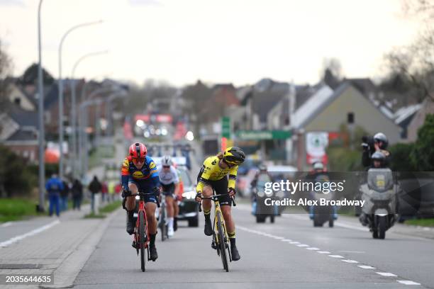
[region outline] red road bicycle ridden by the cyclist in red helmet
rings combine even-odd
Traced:
[[[137,255],[140,254],[140,268],[142,272],[145,272],[145,249],[148,254],[148,261],[150,261],[149,255],[149,231],[148,231],[148,220],[146,218],[146,210],[145,210],[145,196],[154,195],[156,193],[145,193],[143,191],[139,191],[138,193],[132,193],[130,196],[138,196],[138,212],[137,212],[137,221],[135,222],[135,229],[133,234],[133,247],[137,251]],[[157,198],[157,196],[156,196]],[[157,198],[157,207],[160,208],[160,202]]]

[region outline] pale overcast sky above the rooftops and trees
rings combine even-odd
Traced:
[[[0,0],[0,38],[23,73],[38,60],[38,0]],[[325,57],[346,77],[379,77],[382,57],[416,37],[421,23],[405,18],[400,0],[44,0],[43,66],[58,76],[111,77],[142,84],[162,79],[182,86],[252,84],[270,77],[314,84]]]

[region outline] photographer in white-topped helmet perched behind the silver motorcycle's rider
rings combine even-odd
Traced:
[[[383,165],[388,166],[390,164],[390,152],[386,150],[389,145],[386,135],[382,132],[377,132],[374,137],[364,136],[362,137],[362,164],[365,167],[372,165],[372,156],[375,152],[381,152],[384,155]]]

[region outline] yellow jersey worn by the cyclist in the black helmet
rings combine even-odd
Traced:
[[[201,192],[204,186],[208,185],[207,181],[218,181],[226,177],[229,174],[228,188],[235,188],[235,181],[237,179],[238,166],[232,166],[231,168],[222,169],[218,162],[218,157],[208,157],[205,159],[202,169],[199,172],[198,183],[196,191]]]

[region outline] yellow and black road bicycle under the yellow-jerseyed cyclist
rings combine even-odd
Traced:
[[[214,202],[214,225],[213,225],[213,241],[211,243],[211,247],[217,250],[217,255],[221,257],[221,262],[223,263],[223,269],[226,272],[229,271],[228,266],[228,256],[229,261],[232,262],[232,255],[230,255],[229,248],[229,237],[228,231],[226,231],[225,220],[223,219],[223,213],[221,212],[220,203],[218,202],[218,197],[228,196],[228,193],[222,193],[216,195],[214,192],[213,196],[204,197],[198,196],[201,200],[210,199]],[[235,200],[232,198],[232,203],[235,206]],[[202,211],[201,203],[199,205],[199,212]],[[226,255],[226,251],[228,251],[228,255]]]

